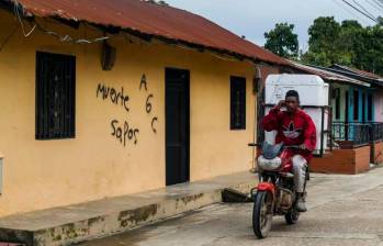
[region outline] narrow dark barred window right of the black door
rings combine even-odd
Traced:
[[[246,128],[246,78],[230,78],[230,130]]]

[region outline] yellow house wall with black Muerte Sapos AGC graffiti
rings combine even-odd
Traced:
[[[38,21],[60,34],[102,35],[92,27],[76,31]],[[0,10],[0,45],[16,26],[16,19]],[[19,29],[0,51],[0,152],[4,155],[0,216],[165,187],[165,67],[189,69],[191,75],[191,181],[251,167],[247,143],[254,134],[255,69],[250,63],[134,37],[120,36],[110,43],[117,47],[111,71],[101,69],[101,44],[63,43],[38,30],[23,37]],[[74,139],[35,139],[36,51],[76,55]],[[148,92],[138,89],[143,74]],[[246,131],[229,131],[232,75],[247,77]],[[131,111],[97,98],[100,82],[124,87]],[[154,94],[150,114],[145,111],[148,93]],[[154,116],[159,119],[157,134],[150,127]],[[124,147],[111,135],[113,119],[139,128],[137,145],[128,142]]]

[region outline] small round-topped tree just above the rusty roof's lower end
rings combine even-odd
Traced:
[[[298,55],[298,41],[297,35],[293,31],[293,24],[275,24],[273,30],[264,33],[264,48],[285,58],[296,58]]]

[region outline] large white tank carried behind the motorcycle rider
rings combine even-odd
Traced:
[[[289,90],[296,90],[300,94],[301,108],[313,119],[316,126],[317,145],[315,154],[320,153],[320,147],[327,147],[328,128],[328,83],[315,75],[270,75],[266,79],[266,114],[272,105],[284,100]],[[264,138],[269,143],[275,142],[277,132],[266,132]],[[322,138],[322,136],[324,136]],[[323,141],[323,142],[322,142]]]

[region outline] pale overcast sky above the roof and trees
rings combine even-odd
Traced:
[[[353,1],[375,16],[383,15],[383,8],[374,0]],[[341,0],[166,0],[166,2],[203,15],[261,46],[264,45],[263,33],[273,29],[279,22],[295,24],[295,32],[303,49],[307,48],[308,26],[317,16],[335,16],[339,22],[353,19],[363,25],[373,24],[371,20],[347,7]],[[349,2],[353,3],[352,0]]]

